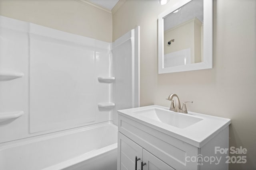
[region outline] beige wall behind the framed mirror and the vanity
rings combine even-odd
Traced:
[[[230,146],[248,154],[230,170],[256,169],[256,0],[214,0],[213,69],[158,74],[157,18],[176,2],[127,0],[113,15],[113,40],[140,25],[140,104],[177,93],[190,111],[232,119]]]

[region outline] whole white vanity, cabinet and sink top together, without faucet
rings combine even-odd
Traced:
[[[230,119],[163,106],[118,111],[118,170],[228,170]],[[217,147],[217,148],[216,148]]]

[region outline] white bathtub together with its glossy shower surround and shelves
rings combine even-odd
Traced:
[[[115,170],[139,27],[114,43],[0,16],[0,170]]]

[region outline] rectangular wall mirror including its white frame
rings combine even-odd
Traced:
[[[158,17],[158,74],[212,68],[212,0],[179,0]]]

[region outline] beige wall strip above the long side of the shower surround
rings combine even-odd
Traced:
[[[112,42],[112,14],[75,0],[0,0],[0,15]]]

